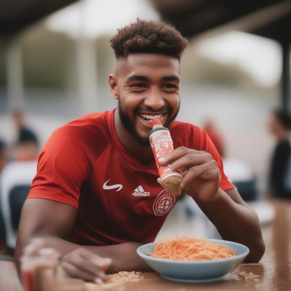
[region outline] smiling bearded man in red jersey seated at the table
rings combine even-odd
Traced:
[[[116,71],[109,86],[118,107],[72,121],[49,138],[22,210],[16,262],[31,238],[46,237],[72,276],[94,281],[105,270],[149,270],[136,248],[155,239],[177,201],[157,179],[148,142],[154,117],[169,127],[176,148],[159,162],[186,166],[184,191],[224,239],[247,245],[247,260],[259,261],[264,243],[257,215],[227,180],[208,136],[174,121],[186,45],[174,28],[154,21],[137,20],[113,36]]]

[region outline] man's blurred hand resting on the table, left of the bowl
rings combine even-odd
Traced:
[[[100,258],[85,248],[78,248],[63,257],[61,267],[71,277],[100,284],[106,280],[105,271],[111,263],[112,259]]]

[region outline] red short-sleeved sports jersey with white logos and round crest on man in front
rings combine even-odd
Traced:
[[[93,113],[56,129],[40,153],[28,198],[78,209],[70,241],[81,245],[154,241],[177,198],[157,182],[155,162],[143,165],[119,142],[114,110]],[[205,132],[174,121],[174,148],[209,152],[218,163],[220,188],[234,188]]]

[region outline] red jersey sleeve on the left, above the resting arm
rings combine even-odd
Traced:
[[[78,208],[81,184],[91,164],[81,146],[64,128],[55,130],[42,149],[27,198],[43,198]]]

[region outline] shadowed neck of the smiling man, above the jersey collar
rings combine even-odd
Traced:
[[[120,144],[139,162],[146,165],[154,161],[150,146],[142,146],[123,127],[117,109],[114,112],[114,127]]]

